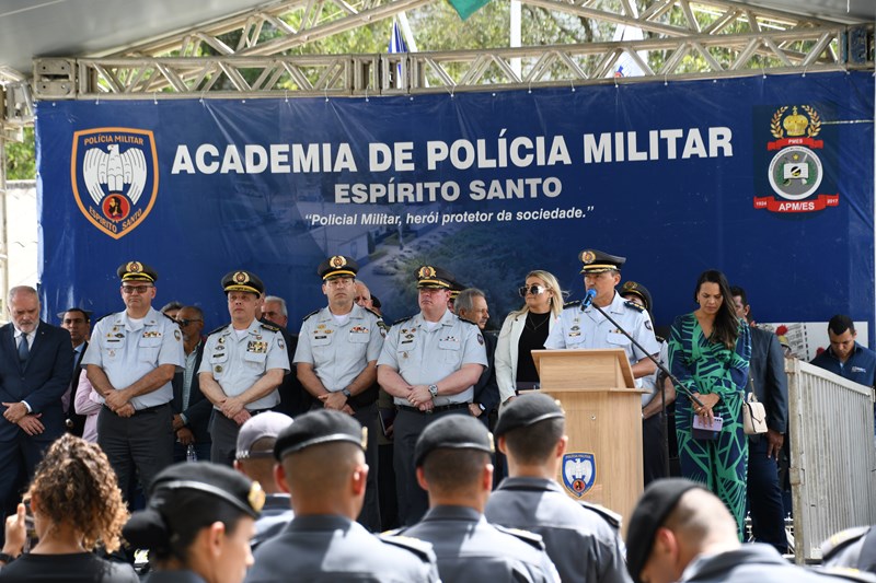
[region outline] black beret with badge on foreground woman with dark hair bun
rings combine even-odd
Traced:
[[[257,481],[233,469],[209,462],[182,463],[169,466],[152,480],[149,506],[161,510],[180,490],[203,492],[220,498],[253,518],[265,505],[265,492]]]

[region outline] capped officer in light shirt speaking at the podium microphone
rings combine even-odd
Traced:
[[[645,347],[648,354],[656,355],[660,345],[654,336],[654,326],[644,307],[621,298],[614,288],[621,282],[621,266],[625,257],[609,255],[596,249],[578,254],[584,264],[584,285],[596,290],[593,305],[609,313],[624,330]],[[652,374],[657,366],[646,354],[633,346],[611,322],[592,305],[581,307],[580,302],[568,302],[560,314],[560,323],[551,328],[544,348],[622,348],[630,359],[633,376],[641,378]]]

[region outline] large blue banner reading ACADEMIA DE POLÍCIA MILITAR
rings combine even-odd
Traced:
[[[219,281],[258,273],[290,329],[325,304],[316,266],[353,256],[388,319],[414,269],[487,292],[498,327],[531,269],[580,298],[578,252],[627,257],[657,324],[724,270],[764,322],[874,319],[873,78],[752,77],[371,98],[37,104],[47,313],[155,304],[229,319]]]

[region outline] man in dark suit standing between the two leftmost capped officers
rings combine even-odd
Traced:
[[[198,369],[204,358],[204,312],[194,305],[180,308],[176,323],[183,333],[183,351],[185,366],[172,381],[173,431],[176,442],[173,444],[173,460],[184,462],[188,446],[193,445],[198,459],[210,459],[210,413],[212,405],[204,397],[198,382]]]

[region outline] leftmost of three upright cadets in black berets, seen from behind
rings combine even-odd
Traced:
[[[349,415],[320,409],[296,418],[277,438],[277,483],[295,518],[255,551],[247,583],[438,581],[429,545],[374,536],[353,522],[365,498],[366,430]]]

